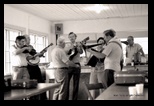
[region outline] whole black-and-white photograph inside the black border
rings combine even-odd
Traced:
[[[4,100],[148,100],[148,4],[4,4]]]

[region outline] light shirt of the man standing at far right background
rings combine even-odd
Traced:
[[[134,43],[133,46],[127,46],[126,47],[126,52],[127,52],[127,58],[131,59],[133,58],[134,54],[137,53],[142,47],[137,44]]]

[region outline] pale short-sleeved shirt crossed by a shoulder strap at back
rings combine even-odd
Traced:
[[[116,41],[121,45],[121,42],[116,37],[112,38],[109,42]],[[120,71],[120,60],[122,59],[123,51],[121,47],[116,43],[108,43],[103,53],[106,55],[104,60],[104,69],[112,69]]]

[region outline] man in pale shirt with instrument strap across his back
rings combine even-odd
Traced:
[[[104,72],[107,87],[114,83],[114,73],[121,71],[121,61],[123,60],[123,50],[121,41],[116,36],[113,29],[108,29],[103,32],[107,46],[102,53],[87,49],[88,52],[95,55],[97,58],[104,58]]]

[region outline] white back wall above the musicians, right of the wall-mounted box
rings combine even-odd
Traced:
[[[85,21],[63,21],[54,22],[63,24],[63,33],[97,33],[100,34],[106,29],[114,29],[120,37],[132,34],[135,37],[148,36],[148,16],[109,18]]]

